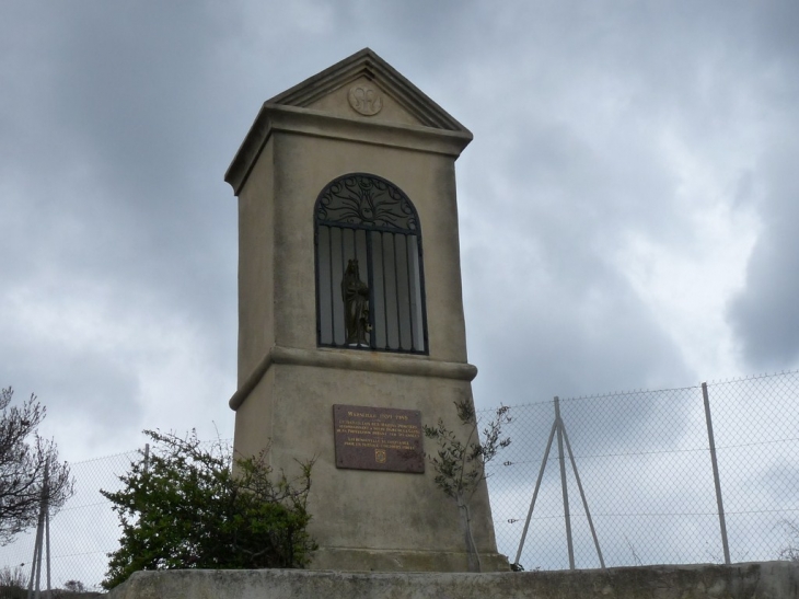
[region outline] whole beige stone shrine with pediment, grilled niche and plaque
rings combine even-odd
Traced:
[[[264,103],[225,174],[239,198],[234,449],[316,459],[312,568],[467,568],[421,426],[472,402],[455,160],[472,134],[370,49]],[[428,442],[428,451],[437,448]],[[472,502],[484,571],[488,493]]]

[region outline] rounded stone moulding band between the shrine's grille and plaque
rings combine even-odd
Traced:
[[[333,348],[300,349],[276,345],[266,353],[250,376],[244,379],[239,390],[233,393],[228,402],[231,410],[239,410],[239,406],[244,403],[244,400],[260,382],[260,379],[264,378],[273,364],[316,366],[320,368],[363,370],[367,372],[433,377],[461,381],[472,381],[477,376],[477,367],[471,364],[431,360],[426,356],[409,356],[406,354],[402,356],[391,354],[375,356],[371,352]]]

